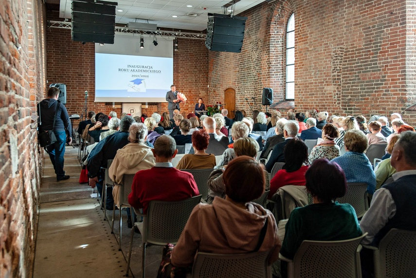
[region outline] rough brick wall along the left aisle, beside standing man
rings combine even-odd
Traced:
[[[32,277],[42,154],[31,112],[45,87],[41,1],[0,5],[0,277]]]

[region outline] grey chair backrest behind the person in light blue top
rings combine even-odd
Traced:
[[[366,183],[348,183],[347,192],[344,197],[338,198],[341,204],[351,204],[357,217],[360,218],[368,210],[367,201],[367,184]]]

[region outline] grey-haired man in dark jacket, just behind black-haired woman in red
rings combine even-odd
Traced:
[[[298,121],[288,121],[283,126],[283,136],[285,137],[285,141],[277,144],[271,151],[271,156],[269,158],[269,161],[266,164],[266,170],[269,173],[271,172],[271,169],[273,168],[276,162],[285,162],[285,155],[284,155],[285,146],[286,144],[289,143],[290,139],[296,138],[298,131],[299,131]],[[321,131],[321,134],[322,134],[322,131]]]

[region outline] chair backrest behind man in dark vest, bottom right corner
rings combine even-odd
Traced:
[[[381,277],[416,276],[416,231],[391,229],[380,245]]]

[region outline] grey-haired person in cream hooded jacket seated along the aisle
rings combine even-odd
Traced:
[[[135,174],[140,170],[150,169],[155,166],[155,157],[152,148],[145,144],[147,139],[147,128],[142,123],[133,123],[128,129],[128,143],[123,148],[117,150],[111,166],[109,167],[109,177],[115,182],[113,187],[113,198],[117,206],[119,204],[120,185],[123,183],[123,176]],[[127,209],[127,214],[129,214]],[[131,218],[127,218],[127,226],[132,227]]]

